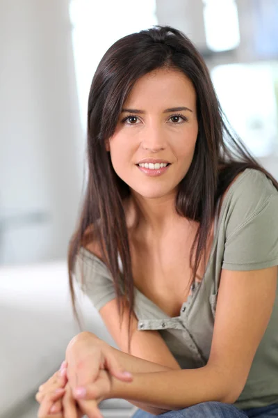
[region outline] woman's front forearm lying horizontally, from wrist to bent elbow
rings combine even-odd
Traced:
[[[133,381],[129,383],[112,379],[109,397],[133,399],[165,410],[179,410],[206,401],[235,401],[232,396],[229,398],[227,379],[209,366],[193,370],[133,373]]]

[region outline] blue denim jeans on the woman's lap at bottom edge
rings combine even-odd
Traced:
[[[132,418],[152,418],[155,415],[143,410],[137,410]],[[204,402],[188,408],[169,411],[161,415],[161,418],[278,418],[278,404],[268,405],[263,408],[238,410],[234,405],[220,402]]]

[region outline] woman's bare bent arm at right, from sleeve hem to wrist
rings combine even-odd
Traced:
[[[243,391],[254,355],[275,302],[277,266],[263,270],[222,270],[211,354],[192,370],[133,373],[133,381],[112,377],[106,398],[124,398],[166,410],[206,401],[234,403]],[[85,398],[97,394],[90,385]],[[154,412],[152,412],[154,413]]]

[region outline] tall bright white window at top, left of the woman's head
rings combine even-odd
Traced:
[[[72,40],[82,125],[86,127],[88,94],[92,77],[102,56],[113,43],[158,24],[156,1],[72,0]]]

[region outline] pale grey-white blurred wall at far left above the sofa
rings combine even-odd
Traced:
[[[0,263],[61,258],[83,141],[68,1],[0,0],[0,51]]]

